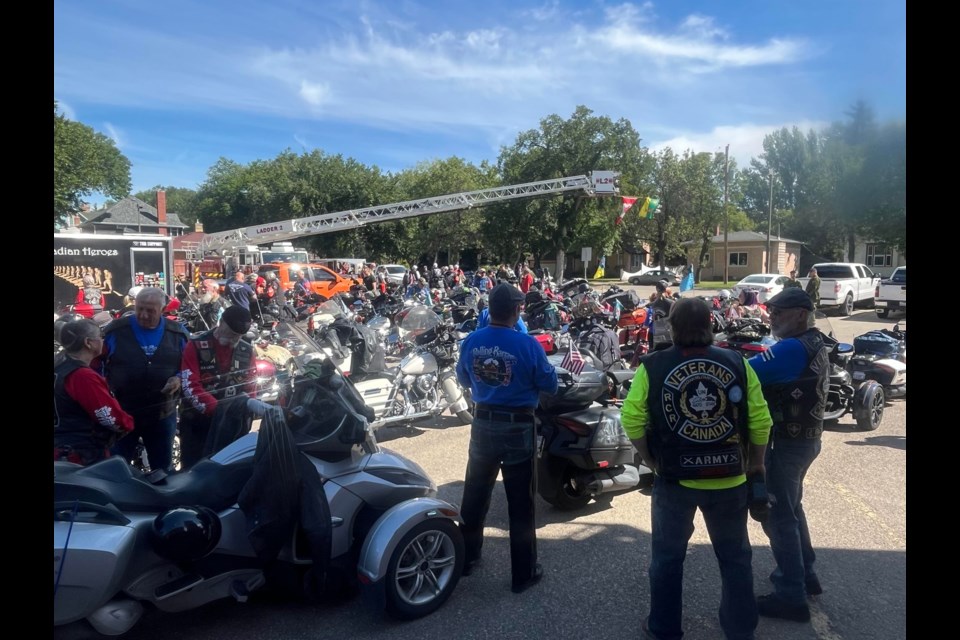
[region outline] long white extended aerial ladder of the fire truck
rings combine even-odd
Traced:
[[[613,196],[620,193],[619,176],[620,173],[617,171],[593,171],[582,176],[465,191],[364,209],[350,209],[337,213],[322,213],[305,218],[269,222],[231,231],[208,233],[200,242],[200,250],[201,255],[207,252],[222,253],[224,250],[236,247],[294,240],[304,236],[357,229],[376,222],[460,211],[520,198],[536,198],[574,191],[581,191],[588,196]]]

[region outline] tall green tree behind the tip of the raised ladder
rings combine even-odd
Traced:
[[[640,136],[625,119],[614,122],[578,106],[569,119],[554,114],[539,129],[520,133],[500,150],[504,184],[586,175],[594,170],[624,171],[643,162]],[[582,195],[506,203],[484,221],[488,251],[511,263],[530,250],[535,258],[556,253],[557,277],[563,277],[566,252],[576,246],[609,251],[616,243],[619,201]]]

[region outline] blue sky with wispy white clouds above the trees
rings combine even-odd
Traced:
[[[904,0],[55,0],[54,97],[134,191],[320,149],[385,171],[495,162],[577,105],[741,166],[856,100],[906,118]]]

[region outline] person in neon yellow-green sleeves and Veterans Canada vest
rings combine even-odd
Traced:
[[[621,415],[643,463],[656,471],[643,635],[683,635],[683,561],[699,509],[720,564],[720,627],[728,639],[753,638],[746,475],[764,472],[770,412],[747,361],[713,346],[704,300],[677,301],[668,320],[673,345],[641,360]]]

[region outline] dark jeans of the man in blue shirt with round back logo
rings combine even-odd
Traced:
[[[537,563],[535,432],[533,422],[479,418],[474,418],[470,430],[470,456],[461,505],[465,558],[467,562],[480,558],[490,497],[497,474],[502,471],[510,518],[510,568],[515,586],[533,575]]]

